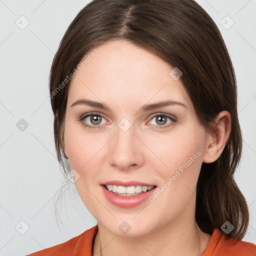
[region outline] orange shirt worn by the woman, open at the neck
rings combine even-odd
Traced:
[[[92,256],[94,237],[98,226],[95,225],[66,242],[39,250],[27,256]],[[256,245],[228,238],[215,228],[207,247],[201,256],[255,256]]]

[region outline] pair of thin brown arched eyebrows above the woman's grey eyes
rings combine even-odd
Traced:
[[[85,99],[85,98],[76,100],[75,102],[73,102],[70,105],[70,107],[75,106],[75,105],[88,105],[88,106],[97,107],[100,109],[105,109],[105,110],[111,111],[110,108],[108,106],[106,106],[105,104],[97,102],[97,101]],[[149,110],[152,110],[155,108],[160,108],[160,107],[168,106],[168,105],[180,105],[180,106],[188,108],[182,102],[174,101],[174,100],[166,100],[166,101],[159,101],[159,102],[152,103],[152,104],[145,104],[139,109],[139,111],[149,111]]]

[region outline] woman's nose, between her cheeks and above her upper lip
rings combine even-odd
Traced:
[[[121,127],[121,126],[120,126]],[[126,131],[117,126],[116,134],[111,139],[108,161],[120,170],[134,169],[144,162],[144,145],[135,134],[133,125]]]

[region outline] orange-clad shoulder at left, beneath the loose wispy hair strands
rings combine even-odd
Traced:
[[[83,251],[83,255],[91,255],[94,237],[97,233],[97,225],[85,230],[83,233],[54,246],[41,249],[39,251],[28,254],[27,256],[70,256],[78,255],[79,251]],[[86,252],[88,254],[86,254]]]

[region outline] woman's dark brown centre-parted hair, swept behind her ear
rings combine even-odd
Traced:
[[[202,163],[195,220],[209,234],[214,228],[221,231],[229,221],[234,229],[227,235],[242,239],[249,214],[233,178],[242,149],[235,74],[216,24],[193,0],[93,0],[79,11],[60,42],[50,72],[55,147],[65,174],[62,139],[69,82],[61,89],[59,84],[86,52],[112,39],[128,40],[178,67],[206,130],[221,110],[231,114],[231,132],[221,155],[212,163]]]

